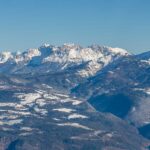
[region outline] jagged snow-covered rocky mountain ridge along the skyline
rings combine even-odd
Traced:
[[[37,73],[39,70],[43,73],[56,72],[86,63],[86,67],[77,73],[87,77],[126,55],[129,55],[126,50],[99,45],[83,48],[75,44],[62,46],[45,44],[38,49],[29,49],[23,53],[2,52],[0,72],[3,70],[10,73]],[[9,65],[13,67],[10,69]]]

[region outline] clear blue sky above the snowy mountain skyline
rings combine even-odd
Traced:
[[[150,50],[150,0],[0,0],[0,51],[66,42]]]

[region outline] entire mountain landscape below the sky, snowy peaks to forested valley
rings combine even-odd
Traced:
[[[45,44],[0,53],[0,149],[148,150],[150,53]]]

